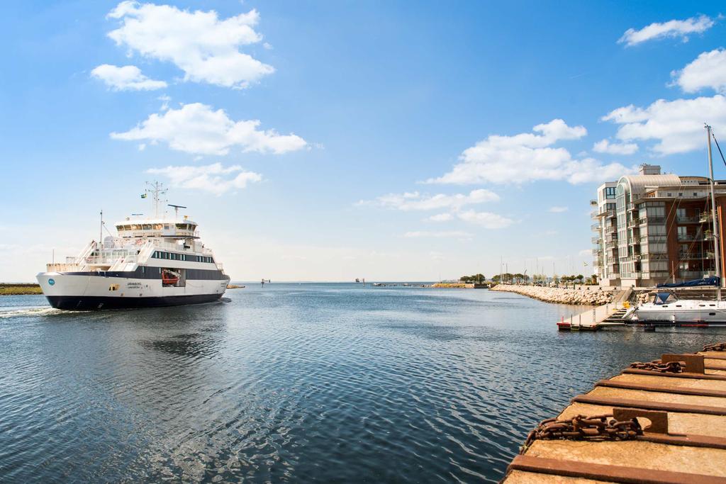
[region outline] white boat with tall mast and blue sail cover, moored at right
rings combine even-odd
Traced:
[[[716,285],[715,300],[679,299],[673,292],[654,292],[648,303],[641,304],[632,313],[632,320],[657,324],[726,324],[726,301],[721,300],[721,247],[716,221],[714,195],[714,163],[711,157],[711,126],[706,125],[709,140],[709,174],[711,176],[711,223],[713,226],[716,276],[683,285]],[[670,284],[671,287],[675,284]]]

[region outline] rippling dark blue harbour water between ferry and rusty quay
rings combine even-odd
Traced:
[[[718,339],[562,335],[572,308],[487,291],[227,296],[99,313],[2,302],[3,480],[496,481],[593,381]]]

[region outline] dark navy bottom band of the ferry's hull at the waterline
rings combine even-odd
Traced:
[[[96,311],[99,309],[162,308],[165,306],[211,303],[221,294],[163,296],[157,298],[121,298],[107,296],[46,296],[56,309],[70,311]]]

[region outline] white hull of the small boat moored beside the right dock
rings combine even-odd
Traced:
[[[726,324],[726,301],[678,300],[668,304],[638,306],[635,317],[641,322],[661,324]]]

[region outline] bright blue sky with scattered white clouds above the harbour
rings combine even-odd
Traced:
[[[8,5],[0,280],[75,254],[101,209],[149,213],[153,179],[234,280],[587,274],[597,184],[706,174],[718,7]]]

